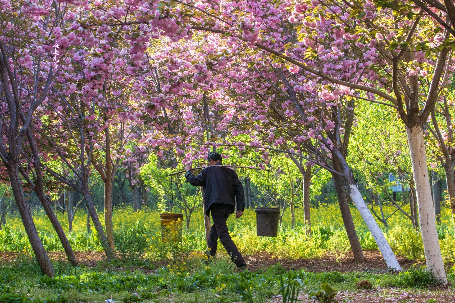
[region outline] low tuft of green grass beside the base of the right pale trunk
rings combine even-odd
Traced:
[[[411,268],[397,275],[384,276],[381,284],[386,287],[429,288],[438,286],[440,283],[434,273],[419,267]]]

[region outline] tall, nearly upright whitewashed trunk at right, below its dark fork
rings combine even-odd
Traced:
[[[421,126],[406,129],[411,152],[412,171],[414,172],[417,207],[419,209],[420,232],[425,250],[426,266],[435,273],[442,284],[447,284],[444,263],[442,262],[436,229],[435,209],[431,198],[430,179],[425,154],[425,141]]]

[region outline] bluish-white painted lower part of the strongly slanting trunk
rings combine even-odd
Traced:
[[[351,189],[350,196],[352,201],[355,204],[355,207],[359,210],[360,215],[367,224],[367,227],[370,233],[373,235],[374,241],[378,244],[379,250],[382,253],[385,263],[388,268],[393,268],[395,270],[401,270],[401,266],[398,263],[398,260],[390,248],[389,242],[384,237],[381,228],[379,228],[378,223],[374,219],[373,215],[370,213],[367,205],[365,204],[362,194],[360,194],[359,189],[354,184],[350,184],[349,188]]]

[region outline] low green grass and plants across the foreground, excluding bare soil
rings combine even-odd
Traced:
[[[210,266],[206,266],[202,258],[183,260],[156,268],[152,273],[135,270],[144,266],[153,268],[153,264],[147,261],[103,261],[94,268],[56,262],[57,274],[49,278],[40,274],[32,258],[21,257],[12,263],[0,263],[0,303],[42,303],[44,300],[48,303],[104,302],[111,296],[118,302],[164,303],[172,299],[175,303],[230,303],[241,300],[236,292],[235,280],[250,288],[253,302],[258,302],[258,293],[265,299],[278,294],[281,275],[285,283],[290,282],[287,280],[288,271],[279,264],[256,272],[239,272],[227,256],[215,259]],[[119,269],[119,265],[124,269]],[[428,288],[435,283],[434,277],[419,268],[398,275],[378,272],[313,273],[304,269],[289,272],[290,276],[297,278],[295,281],[298,281],[300,293],[305,296],[318,291],[321,283],[329,283],[334,289],[349,292],[358,291],[355,284],[361,280],[369,280],[374,288]],[[449,277],[454,282],[455,277],[452,274]],[[59,294],[60,297],[57,297]]]

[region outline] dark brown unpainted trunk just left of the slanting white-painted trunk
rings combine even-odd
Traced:
[[[344,180],[337,174],[333,174],[335,190],[338,197],[338,205],[343,218],[344,228],[348,234],[349,244],[351,244],[352,254],[354,255],[355,262],[364,262],[364,252],[360,244],[359,237],[355,231],[354,220],[352,219],[351,210],[349,209],[348,199],[346,197],[346,190],[344,189]]]

